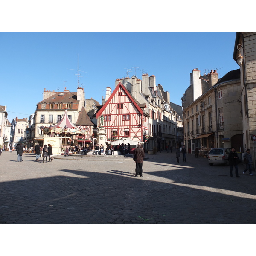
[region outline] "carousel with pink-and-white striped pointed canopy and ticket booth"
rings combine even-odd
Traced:
[[[79,137],[87,135],[90,131],[88,128],[75,127],[67,116],[67,105],[61,121],[57,125],[49,127],[42,126],[41,131],[44,133],[44,145],[52,145],[53,154],[69,154],[71,142],[76,145]]]

